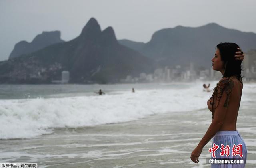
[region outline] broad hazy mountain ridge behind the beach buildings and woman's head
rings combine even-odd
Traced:
[[[243,51],[256,48],[256,34],[224,28],[210,23],[192,28],[176,26],[155,32],[148,43],[119,40],[119,43],[135,49],[157,61],[158,66],[195,65],[208,68],[216,45],[220,42],[237,43]]]

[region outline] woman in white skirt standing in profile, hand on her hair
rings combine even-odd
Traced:
[[[223,78],[220,79],[217,86],[214,88],[212,97],[207,102],[208,108],[212,112],[212,123],[191,154],[190,158],[195,163],[199,162],[198,157],[200,156],[203,147],[212,138],[212,144],[219,146],[214,152],[215,158],[241,158],[241,155],[232,155],[232,151],[236,149],[234,148],[232,150],[232,148],[234,144],[242,144],[242,158],[246,160],[246,145],[236,130],[236,120],[243,88],[241,76],[241,62],[243,59],[244,53],[235,43],[220,43],[217,45],[216,53],[212,59],[212,69],[220,71]],[[227,153],[226,155],[224,154],[224,156],[220,155],[220,152],[222,151],[220,149],[222,147],[221,144],[223,144],[224,147],[229,145],[229,156],[227,156]],[[209,152],[212,151],[209,149]],[[212,158],[214,157],[212,156]],[[225,167],[228,166],[228,164],[212,164],[212,167],[221,166]],[[245,164],[234,164],[232,166],[244,167]]]

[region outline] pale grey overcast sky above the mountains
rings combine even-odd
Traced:
[[[215,22],[256,32],[256,0],[0,0],[0,61],[14,45],[42,31],[60,30],[63,40],[78,36],[91,17],[118,39],[148,42],[162,28]]]

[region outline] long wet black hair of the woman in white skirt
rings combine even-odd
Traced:
[[[223,77],[231,77],[235,75],[237,79],[242,83],[242,61],[236,60],[235,55],[240,48],[236,43],[219,43],[217,48],[220,51],[221,60],[224,62],[224,74]]]

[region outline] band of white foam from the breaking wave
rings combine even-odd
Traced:
[[[51,133],[51,128],[56,127],[74,128],[119,123],[157,113],[205,109],[206,101],[212,94],[203,92],[201,83],[192,83],[185,89],[172,87],[118,93],[0,100],[0,139],[32,138]],[[243,95],[243,101],[251,100]]]

